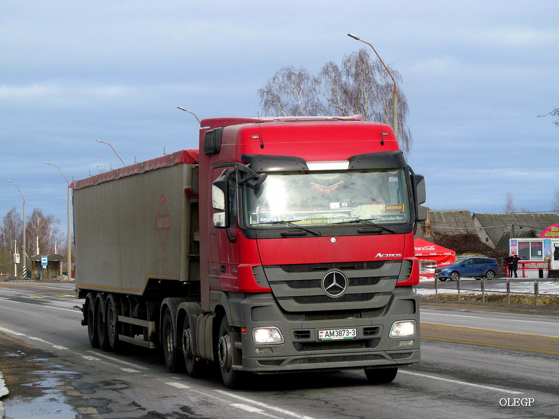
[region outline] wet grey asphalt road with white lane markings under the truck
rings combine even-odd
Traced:
[[[558,417],[558,317],[422,308],[422,361],[393,383],[356,372],[169,374],[160,354],[89,346],[73,283],[0,283],[7,418],[495,419]]]

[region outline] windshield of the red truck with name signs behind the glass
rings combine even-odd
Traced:
[[[269,228],[277,222],[343,226],[410,221],[404,169],[267,174],[262,185],[243,188],[249,227]]]

